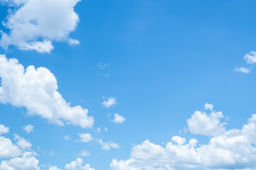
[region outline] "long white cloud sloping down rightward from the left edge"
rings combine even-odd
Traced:
[[[92,128],[94,119],[81,106],[71,107],[58,92],[57,80],[45,67],[26,70],[16,59],[0,55],[0,103],[26,107],[28,115],[40,115],[55,125]]]

